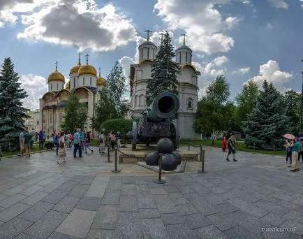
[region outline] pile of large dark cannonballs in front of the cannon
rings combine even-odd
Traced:
[[[174,171],[181,164],[181,156],[174,151],[174,143],[170,138],[161,138],[158,140],[156,152],[150,152],[146,157],[146,164],[149,166],[158,166],[160,159],[159,154],[162,153],[162,169],[164,171]]]

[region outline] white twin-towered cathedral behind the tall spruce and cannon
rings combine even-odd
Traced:
[[[200,72],[191,64],[193,52],[185,44],[185,35],[183,36],[183,45],[175,51],[175,61],[179,64],[180,69],[177,73],[180,102],[177,125],[181,139],[197,139],[198,135],[193,129],[193,122],[197,112],[198,75],[200,75]],[[133,118],[140,117],[142,111],[147,108],[145,92],[147,82],[151,79],[151,62],[155,59],[157,53],[157,46],[149,41],[148,35],[147,41],[139,45],[138,48],[139,62],[138,64],[131,64],[130,70],[131,116]]]

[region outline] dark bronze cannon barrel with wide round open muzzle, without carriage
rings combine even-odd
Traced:
[[[175,94],[163,92],[158,94],[147,108],[149,120],[158,122],[173,117],[179,110],[179,99]]]

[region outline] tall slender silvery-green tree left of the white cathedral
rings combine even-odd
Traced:
[[[122,106],[124,103],[122,96],[126,84],[123,68],[118,61],[115,62],[114,67],[110,71],[107,81],[108,96],[114,103],[118,117],[124,117],[126,108]]]

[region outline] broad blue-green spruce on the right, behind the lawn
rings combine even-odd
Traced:
[[[283,135],[288,133],[285,101],[267,80],[258,96],[256,106],[243,122],[245,144],[263,150],[282,149]]]

